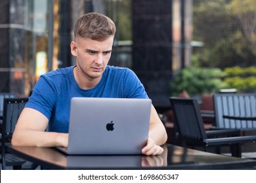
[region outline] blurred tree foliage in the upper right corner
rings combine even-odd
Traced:
[[[195,0],[194,40],[205,46],[193,58],[203,67],[255,65],[255,12],[255,0]]]

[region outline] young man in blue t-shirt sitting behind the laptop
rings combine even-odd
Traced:
[[[68,146],[72,97],[148,98],[139,78],[127,68],[107,66],[116,33],[110,18],[96,12],[81,16],[71,53],[76,65],[42,75],[12,136],[14,146]],[[99,111],[100,113],[100,111]],[[49,131],[45,131],[49,125]],[[163,152],[167,135],[152,105],[146,155]]]

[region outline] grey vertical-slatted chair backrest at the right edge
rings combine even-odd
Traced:
[[[229,129],[255,130],[256,93],[225,93],[214,94],[215,123],[217,127]],[[224,118],[223,116],[239,117],[241,119]]]

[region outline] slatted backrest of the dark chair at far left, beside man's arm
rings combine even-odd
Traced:
[[[2,139],[12,137],[12,133],[18,121],[18,117],[24,106],[28,102],[28,98],[9,98],[4,99],[3,103],[3,124]]]

